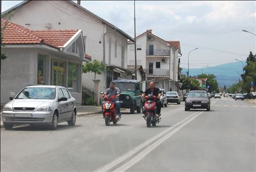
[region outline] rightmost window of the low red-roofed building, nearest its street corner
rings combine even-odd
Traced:
[[[76,63],[68,63],[68,90],[70,92],[80,91],[80,65]]]

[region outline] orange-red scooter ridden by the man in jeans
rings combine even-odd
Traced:
[[[119,94],[120,92],[117,92]],[[104,94],[100,92],[100,94]],[[120,121],[120,118],[116,119],[116,107],[114,105],[115,95],[104,95],[103,96],[103,104],[102,104],[102,114],[103,118],[105,119],[106,126],[110,125],[110,122],[117,124]]]

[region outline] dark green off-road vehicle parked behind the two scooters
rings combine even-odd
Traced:
[[[140,113],[142,110],[141,82],[134,79],[117,79],[113,82],[121,91],[119,97],[121,108],[130,109],[131,114],[134,114],[135,110]]]

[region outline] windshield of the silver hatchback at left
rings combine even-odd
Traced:
[[[54,99],[54,88],[25,88],[15,99]]]

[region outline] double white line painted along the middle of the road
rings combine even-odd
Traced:
[[[134,154],[136,154],[137,152],[139,152],[139,150],[141,150],[142,148],[146,147],[147,145],[150,145],[152,142],[154,142],[155,140],[157,140],[159,137],[163,136],[164,134],[166,134],[167,132],[173,130],[174,128],[176,128],[175,130],[173,130],[172,132],[168,133],[167,135],[165,135],[163,138],[159,139],[158,141],[156,141],[154,144],[151,144],[151,146],[148,146],[146,149],[144,149],[139,155],[141,155],[143,153],[143,156],[145,156],[145,152],[148,154],[150,153],[157,145],[161,144],[163,141],[165,141],[167,138],[169,138],[170,136],[174,135],[176,132],[178,132],[183,126],[185,126],[187,123],[189,123],[190,121],[194,120],[197,116],[199,116],[200,114],[202,114],[203,112],[196,112],[194,114],[189,115],[188,117],[186,117],[185,119],[181,120],[180,122],[174,124],[173,126],[167,128],[166,130],[164,130],[163,132],[159,133],[158,135],[154,136],[153,138],[145,141],[144,143],[140,144],[139,146],[135,147],[134,149],[130,150],[129,152],[125,153],[124,155],[118,157],[117,159],[113,160],[112,162],[103,165],[102,167],[97,168],[94,171],[110,171],[110,169],[112,169],[113,167],[115,167],[116,165],[118,165],[119,163],[125,161],[127,158],[133,156]],[[168,136],[168,137],[167,137]],[[153,146],[154,145],[154,146]],[[153,147],[152,147],[153,146]],[[151,149],[148,152],[148,149]],[[137,157],[137,156],[136,156]],[[132,159],[133,162],[135,162],[134,158]],[[136,159],[136,161],[138,160],[138,158]],[[130,162],[130,161],[129,161]],[[137,161],[138,162],[138,161]],[[135,163],[137,163],[135,162]],[[133,164],[133,163],[132,163]],[[128,166],[131,167],[131,163],[129,163],[129,165],[127,163],[125,163],[124,165],[122,165],[120,168],[127,168]],[[129,167],[129,168],[130,168]],[[119,171],[123,171],[120,170],[119,168],[117,168],[116,170]]]

